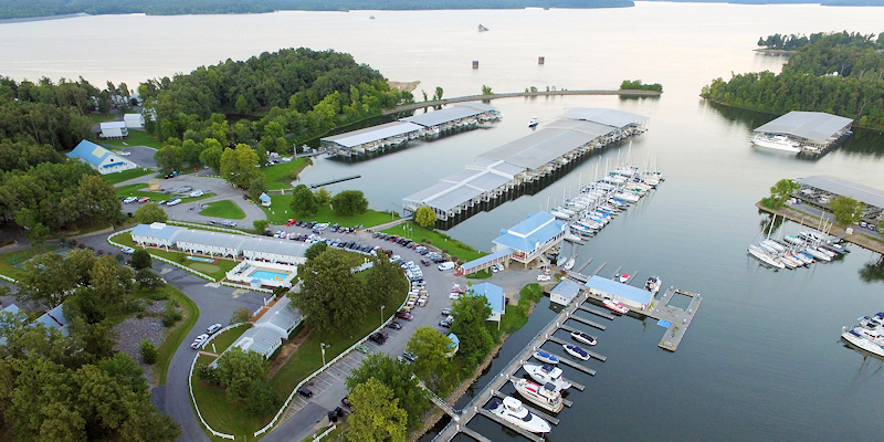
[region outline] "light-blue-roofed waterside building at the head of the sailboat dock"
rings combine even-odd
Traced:
[[[501,235],[492,241],[492,252],[512,249],[511,257],[528,266],[535,260],[545,260],[544,253],[558,245],[567,230],[567,224],[549,212],[537,212],[509,229],[502,229]]]

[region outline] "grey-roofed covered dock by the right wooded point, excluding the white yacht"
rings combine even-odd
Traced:
[[[853,119],[822,112],[792,110],[754,130],[798,141],[803,154],[821,154],[850,131]]]

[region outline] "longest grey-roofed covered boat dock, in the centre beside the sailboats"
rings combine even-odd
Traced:
[[[410,215],[427,206],[436,220],[453,224],[539,190],[591,150],[643,133],[646,122],[648,117],[620,110],[572,108],[543,129],[478,155],[465,170],[403,198],[402,211]]]

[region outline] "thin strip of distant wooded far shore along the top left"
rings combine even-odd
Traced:
[[[624,8],[632,0],[4,0],[0,19],[61,15],[70,13],[148,15],[262,13],[273,11],[432,10],[432,9],[523,9]]]

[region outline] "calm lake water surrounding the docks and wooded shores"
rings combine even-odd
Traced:
[[[376,20],[369,20],[373,14]],[[482,23],[491,31],[478,33]],[[450,233],[488,250],[509,227],[591,180],[597,165],[655,158],[667,180],[619,217],[578,253],[609,266],[639,270],[641,284],[698,292],[704,303],[678,350],[657,349],[664,329],[619,318],[598,333],[604,364],[585,383],[549,441],[575,440],[861,440],[884,429],[878,412],[884,362],[839,340],[841,327],[882,309],[882,283],[864,282],[880,256],[853,246],[843,260],[772,272],[746,254],[758,234],[754,203],[781,178],[828,173],[882,188],[881,137],[857,133],[817,160],[753,149],[750,130],[770,116],[720,109],[701,87],[732,72],[778,71],[783,57],[751,51],[761,35],[849,30],[878,33],[881,8],[638,3],[611,10],[283,12],[215,17],[91,17],[0,25],[0,73],[18,80],[83,75],[129,87],[147,77],[189,72],[198,64],[243,59],[287,46],[333,48],[397,81],[420,80],[415,95],[442,86],[445,96],[529,86],[613,88],[624,78],[662,83],[659,99],[617,97],[507,98],[493,102],[504,119],[370,161],[327,159],[305,170],[306,182],[359,173],[358,187],[379,210],[463,169],[477,154],[527,135],[537,116],[554,120],[569,107],[611,107],[649,116],[650,129],[590,156],[535,196],[480,213]],[[538,65],[537,57],[546,64]],[[480,61],[472,70],[471,62]],[[541,123],[541,127],[543,127]],[[799,229],[786,223],[786,233]],[[566,248],[569,251],[569,248]],[[865,276],[864,276],[865,275]],[[504,346],[490,376],[554,313],[548,299]],[[582,327],[581,327],[582,328]],[[476,389],[487,381],[480,379]],[[469,398],[465,398],[462,406]],[[484,418],[471,428],[495,441],[516,435]],[[462,440],[469,438],[462,436]]]

